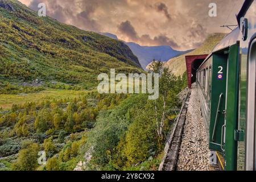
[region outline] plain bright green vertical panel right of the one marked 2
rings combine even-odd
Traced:
[[[237,141],[240,140],[238,124],[238,83],[239,83],[239,46],[230,46],[226,81],[225,109],[225,164],[226,170],[237,169]]]

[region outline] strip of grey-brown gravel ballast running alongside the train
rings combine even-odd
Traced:
[[[196,85],[192,85],[183,138],[177,159],[177,171],[208,171],[209,144],[200,111]]]

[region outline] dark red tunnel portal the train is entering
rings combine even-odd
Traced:
[[[188,88],[196,81],[196,70],[200,67],[208,55],[185,56],[187,65]]]

